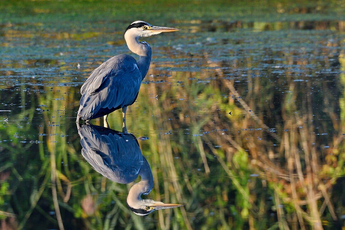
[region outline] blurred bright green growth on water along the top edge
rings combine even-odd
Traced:
[[[67,31],[118,29],[135,20],[198,23],[344,20],[345,1],[2,1],[0,23],[42,23]]]

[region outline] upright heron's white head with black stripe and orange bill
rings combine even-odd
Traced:
[[[131,35],[133,37],[150,37],[161,32],[172,32],[178,30],[180,29],[171,27],[152,26],[151,24],[145,21],[135,21],[127,27],[125,31],[125,36]]]

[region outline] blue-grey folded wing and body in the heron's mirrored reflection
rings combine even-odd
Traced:
[[[93,169],[123,184],[138,177],[143,157],[134,135],[94,125],[82,125],[78,131],[82,156]]]

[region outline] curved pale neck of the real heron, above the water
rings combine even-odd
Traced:
[[[130,30],[125,33],[125,40],[130,51],[139,55],[138,68],[141,72],[141,80],[144,80],[150,67],[152,51],[145,41],[139,42],[139,37],[132,34]]]

